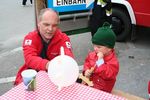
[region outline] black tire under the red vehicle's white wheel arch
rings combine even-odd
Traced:
[[[125,41],[131,32],[131,21],[128,14],[120,9],[112,9],[112,29],[114,30],[117,41]]]

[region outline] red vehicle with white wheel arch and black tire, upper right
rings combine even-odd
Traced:
[[[136,26],[150,27],[149,0],[112,0],[113,26],[117,40],[136,34]]]

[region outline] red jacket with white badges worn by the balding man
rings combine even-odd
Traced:
[[[54,37],[51,39],[47,48],[46,55],[48,59],[42,59],[40,57],[40,53],[43,48],[42,39],[36,30],[30,32],[24,38],[23,41],[23,54],[24,54],[25,64],[19,69],[14,84],[17,85],[20,82],[22,82],[21,72],[25,69],[31,68],[37,71],[46,70],[45,66],[48,63],[48,61],[60,55],[61,46],[64,47],[64,51],[66,55],[73,57],[70,39],[66,34],[62,33],[58,29]]]

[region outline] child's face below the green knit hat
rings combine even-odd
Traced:
[[[95,44],[93,44],[93,47],[94,47],[94,51],[96,53],[102,52],[103,55],[107,55],[111,51],[111,48],[108,48],[106,46],[101,46],[101,45],[95,45]]]

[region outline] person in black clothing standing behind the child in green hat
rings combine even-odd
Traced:
[[[102,27],[104,22],[112,23],[112,3],[111,0],[95,0],[90,18],[91,35]]]

